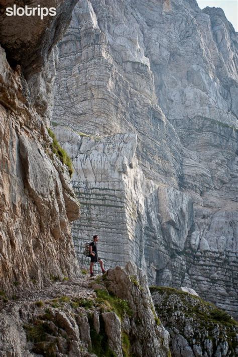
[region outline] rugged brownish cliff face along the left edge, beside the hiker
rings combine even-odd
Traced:
[[[0,47],[0,278],[1,291],[10,295],[29,286],[43,286],[50,277],[77,274],[70,222],[79,217],[79,204],[66,166],[52,152],[49,111],[43,100],[48,98],[53,76],[50,43],[59,39],[59,21],[64,29],[74,5],[63,14],[66,3],[52,2],[58,11],[53,23],[1,17],[6,51]],[[43,41],[43,34],[48,42]],[[41,110],[31,92],[34,76]]]

